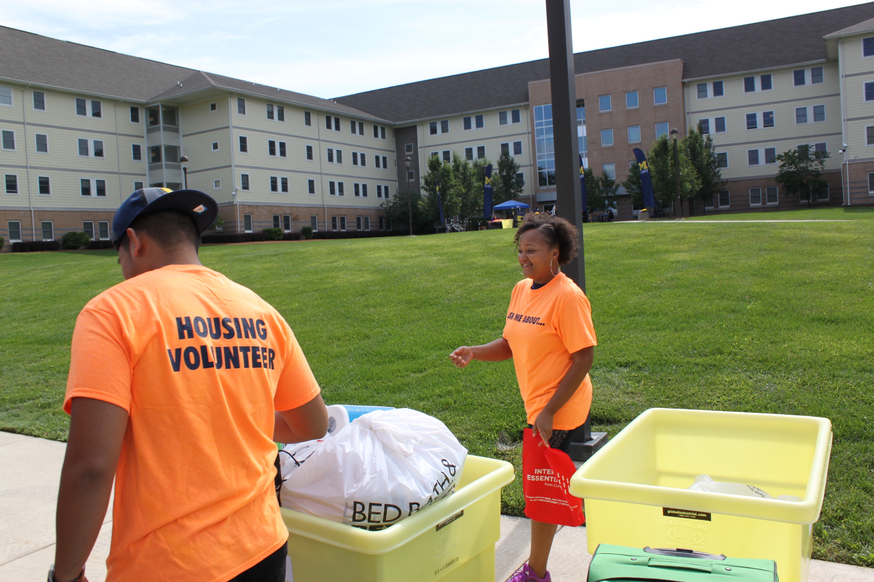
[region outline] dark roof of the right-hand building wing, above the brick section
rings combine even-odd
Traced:
[[[576,72],[679,58],[683,79],[807,63],[826,58],[823,37],[874,17],[874,3],[742,24],[574,54]],[[337,97],[395,122],[528,101],[528,83],[549,77],[549,59],[428,79]]]

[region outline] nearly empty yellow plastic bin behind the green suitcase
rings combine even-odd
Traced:
[[[806,582],[830,451],[825,418],[650,408],[579,468],[570,490],[586,499],[590,553],[617,544],[766,558],[780,582]],[[802,501],[687,490],[703,473]]]

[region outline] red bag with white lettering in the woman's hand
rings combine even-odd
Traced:
[[[545,524],[577,527],[586,522],[583,500],[567,490],[576,468],[567,453],[549,448],[531,428],[522,442],[525,516]]]

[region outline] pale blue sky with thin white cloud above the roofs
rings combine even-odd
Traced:
[[[573,50],[856,3],[571,0]],[[543,0],[0,0],[0,24],[324,98],[548,56]]]

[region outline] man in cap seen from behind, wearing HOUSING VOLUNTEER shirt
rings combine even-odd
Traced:
[[[281,315],[200,264],[217,214],[164,188],[115,214],[126,280],[76,320],[50,582],[85,579],[113,478],[109,582],[285,580],[274,440],[320,438],[328,415]]]

